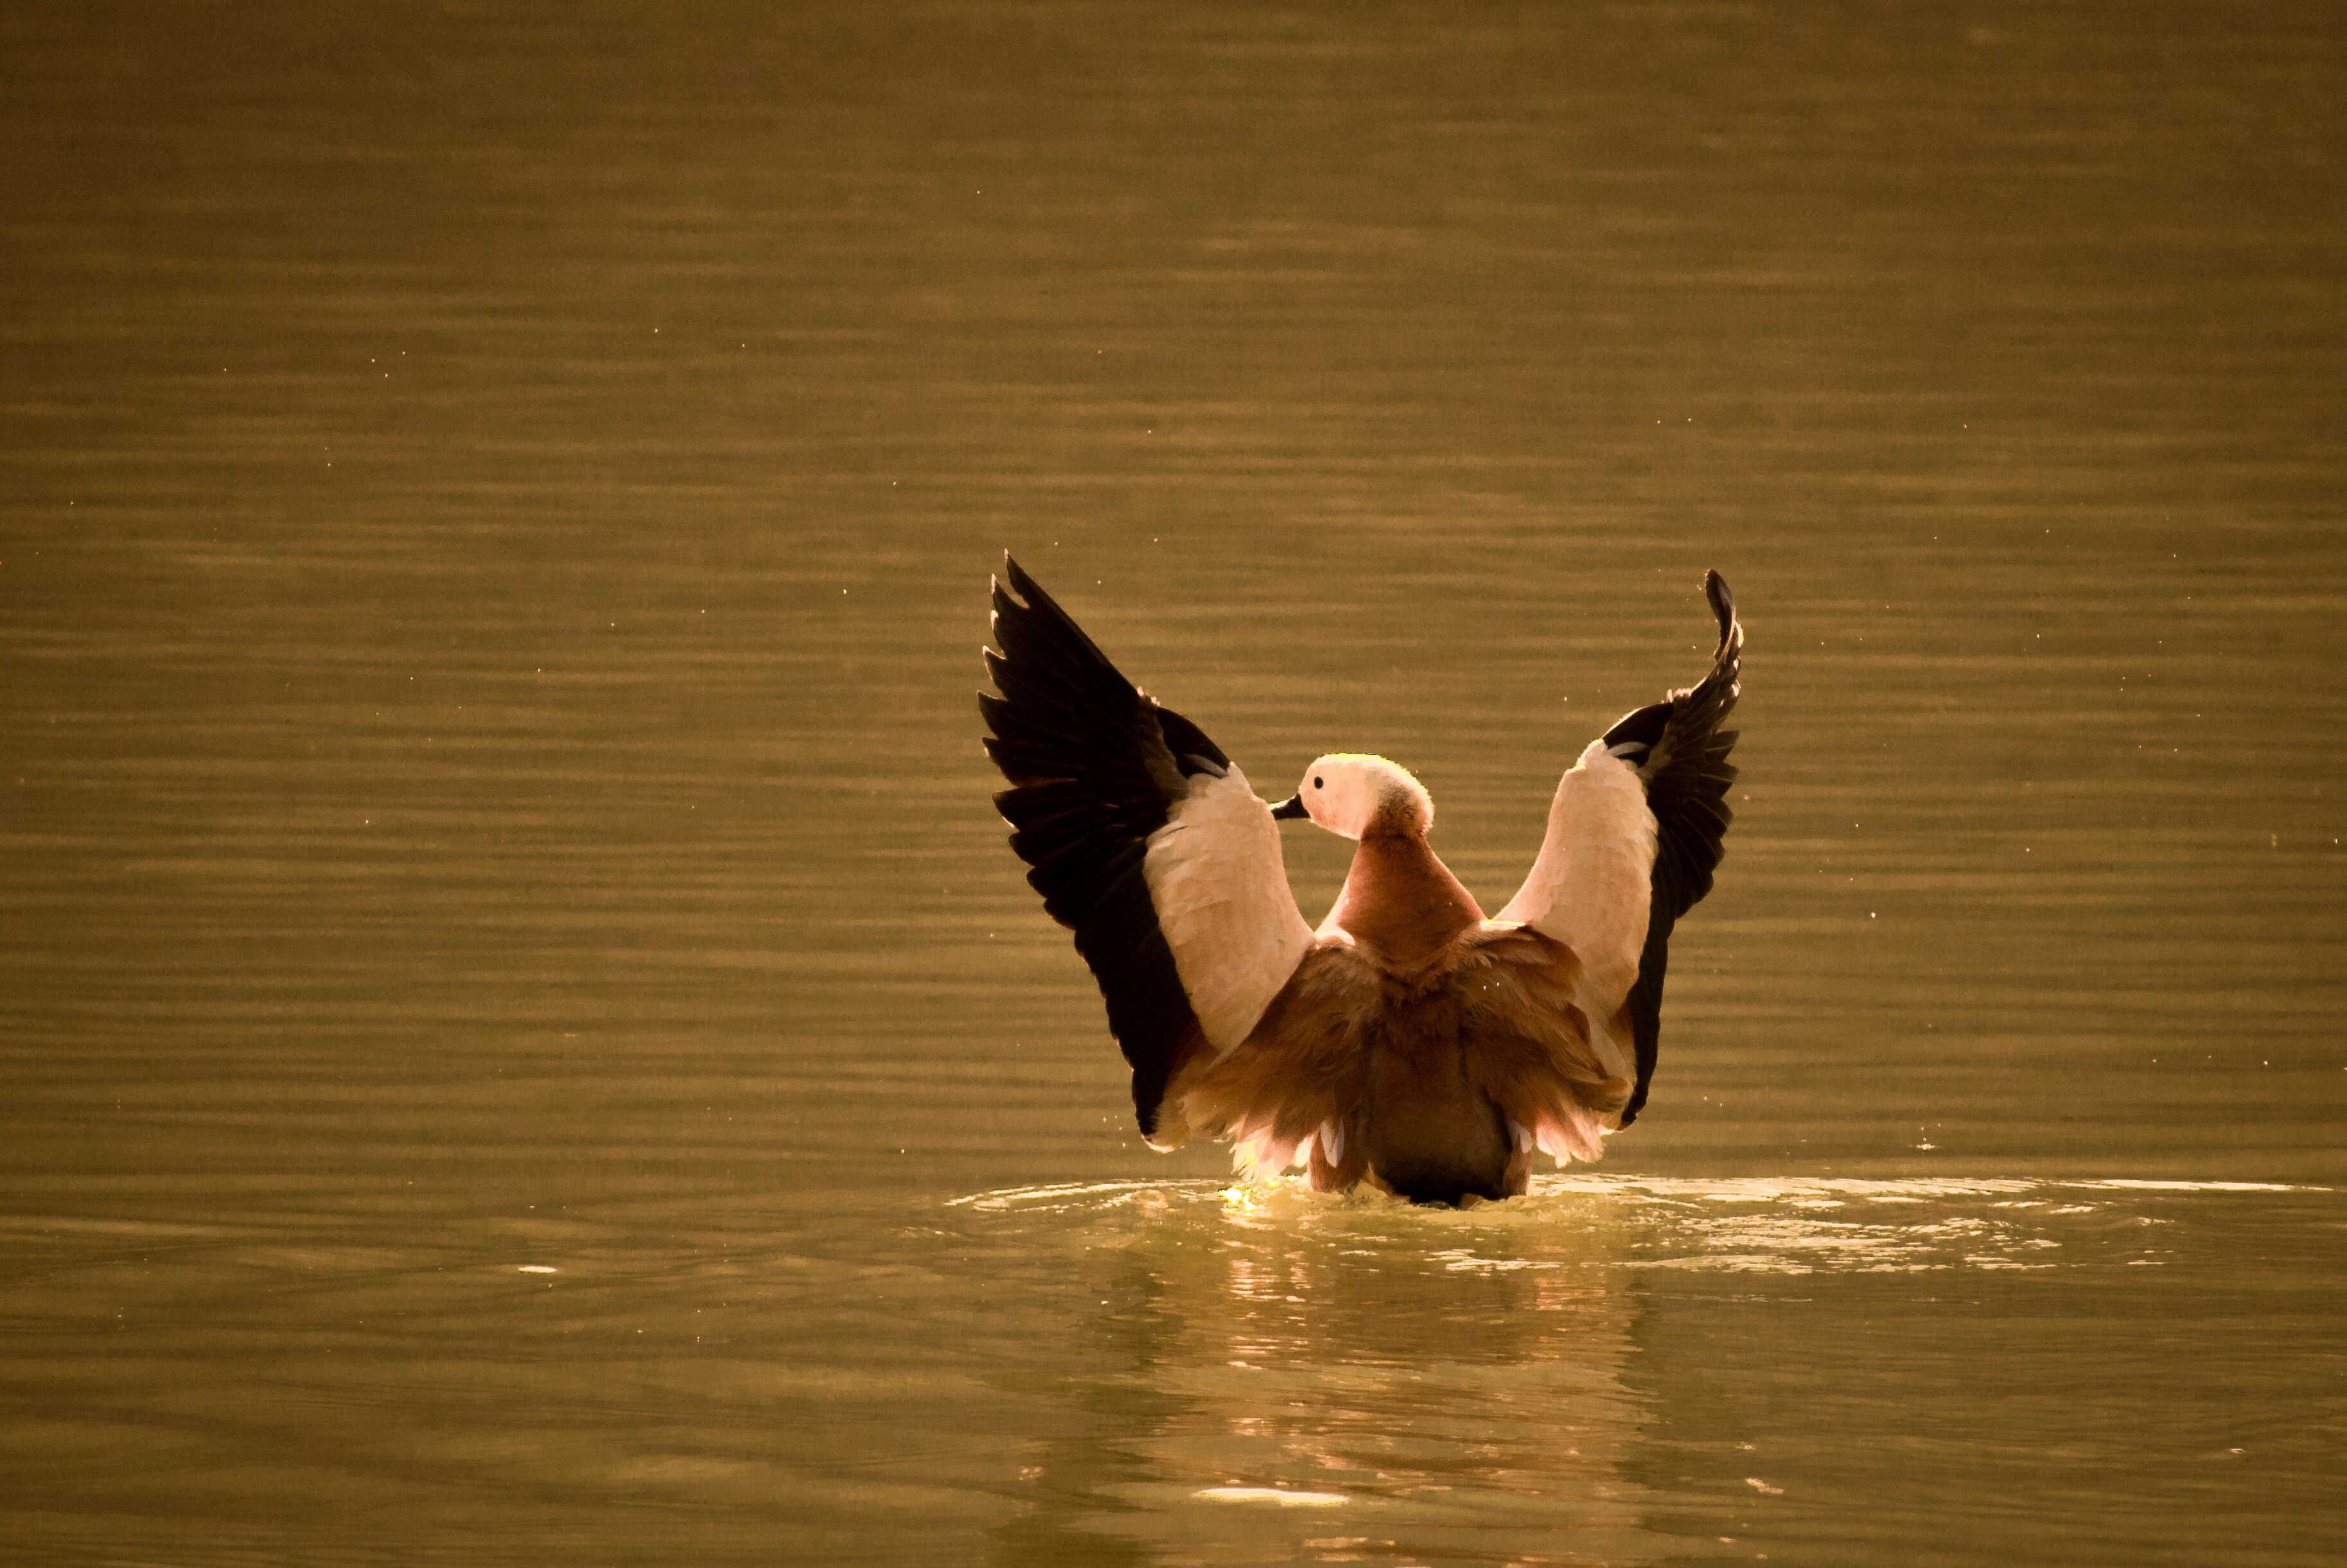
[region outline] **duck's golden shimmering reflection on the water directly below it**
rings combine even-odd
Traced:
[[[1087,1185],[967,1207],[1089,1232],[1131,1300],[1096,1331],[1108,1387],[1145,1399],[1115,1441],[1044,1460],[1037,1486],[1082,1505],[1035,1526],[1181,1556],[1235,1528],[1202,1505],[1256,1502],[1272,1512],[1246,1526],[1253,1549],[1333,1561],[1396,1537],[1476,1561],[1556,1561],[1561,1535],[1617,1561],[1662,1549],[1617,1467],[1638,1422],[1619,1385],[1634,1305],[1605,1279],[1462,1277],[1465,1253],[1429,1251],[1411,1211],[1291,1190]],[[1591,1246],[1535,1228],[1509,1258],[1556,1268]],[[1342,1512],[1286,1516],[1300,1498]]]

